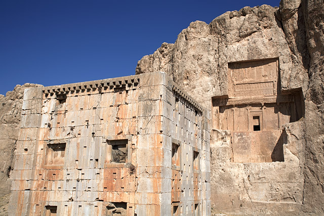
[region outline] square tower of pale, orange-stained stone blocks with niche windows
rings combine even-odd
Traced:
[[[209,119],[163,72],[27,89],[10,215],[210,215]]]

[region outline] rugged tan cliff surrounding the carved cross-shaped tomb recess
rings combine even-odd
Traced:
[[[192,22],[175,44],[138,62],[136,74],[167,72],[211,112],[212,98],[231,94],[233,63],[276,59],[280,93],[301,92],[304,118],[282,128],[285,162],[232,163],[231,136],[212,135],[212,213],[324,212],[323,18],[324,2],[316,0],[245,7],[210,24]]]

